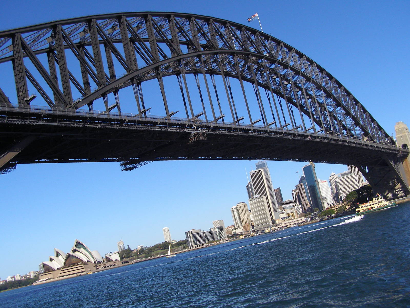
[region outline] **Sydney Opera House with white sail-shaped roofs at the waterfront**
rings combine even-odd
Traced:
[[[48,261],[42,262],[44,272],[40,274],[39,281],[79,276],[120,264],[121,261],[118,253],[105,256],[103,259],[98,251],[91,251],[86,245],[76,239],[71,251],[68,253],[54,248],[54,255],[50,255]]]

